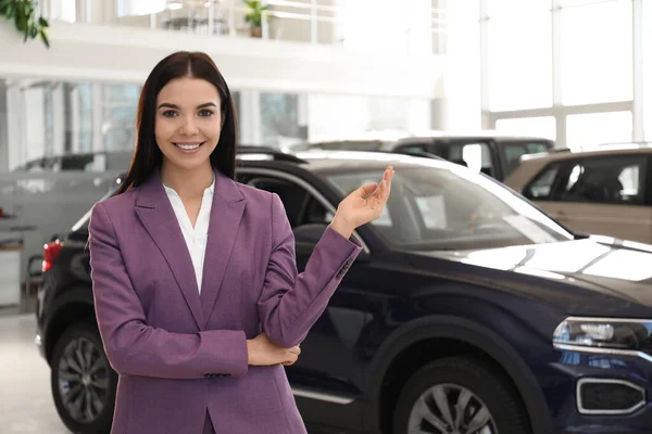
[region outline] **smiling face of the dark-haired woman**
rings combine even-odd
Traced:
[[[154,136],[164,164],[185,170],[206,164],[221,129],[220,94],[209,81],[176,78],[159,92]]]

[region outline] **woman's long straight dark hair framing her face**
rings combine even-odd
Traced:
[[[175,78],[192,77],[211,82],[220,94],[222,132],[217,146],[211,154],[211,165],[230,179],[236,177],[237,127],[234,101],[224,77],[213,60],[202,52],[178,51],[163,59],[150,73],[142,86],[136,120],[136,151],[129,171],[115,193],[122,194],[142,184],[161,168],[163,153],[154,138],[156,97],[165,85]]]

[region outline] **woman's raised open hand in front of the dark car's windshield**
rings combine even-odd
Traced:
[[[380,184],[366,183],[344,197],[337,207],[330,227],[344,238],[349,238],[359,226],[380,217],[389,199],[393,174],[393,168],[387,167]]]

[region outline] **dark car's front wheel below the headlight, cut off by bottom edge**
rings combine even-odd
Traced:
[[[528,434],[518,394],[503,374],[472,357],[435,360],[401,391],[394,434]]]

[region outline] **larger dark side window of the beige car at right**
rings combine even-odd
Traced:
[[[640,156],[592,157],[568,166],[559,200],[614,205],[643,203],[645,158]]]

